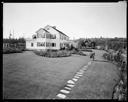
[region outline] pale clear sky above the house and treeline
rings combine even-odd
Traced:
[[[31,38],[46,25],[70,37],[126,37],[125,1],[115,3],[4,3],[3,38]]]

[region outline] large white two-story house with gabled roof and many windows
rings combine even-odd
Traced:
[[[36,31],[32,39],[26,39],[26,49],[28,50],[59,50],[66,47],[69,37],[56,29],[55,26],[47,25]]]

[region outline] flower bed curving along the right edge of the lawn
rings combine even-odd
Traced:
[[[114,61],[120,71],[120,80],[114,86],[112,98],[118,100],[127,100],[127,62],[122,62],[121,56],[112,56],[109,53],[103,54],[103,57],[109,61]]]

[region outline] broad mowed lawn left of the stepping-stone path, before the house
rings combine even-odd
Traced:
[[[51,99],[75,72],[87,64],[88,56],[46,58],[33,52],[3,55],[5,99]]]

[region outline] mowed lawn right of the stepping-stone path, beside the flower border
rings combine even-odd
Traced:
[[[119,72],[115,65],[102,58],[104,51],[95,52],[95,61],[88,66],[88,70],[68,95],[69,99],[112,99]]]

